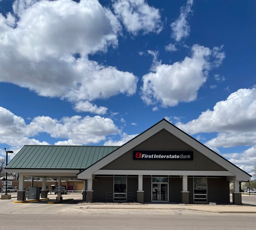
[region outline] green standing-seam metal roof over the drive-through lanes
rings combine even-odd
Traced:
[[[6,169],[86,169],[120,146],[24,146]]]

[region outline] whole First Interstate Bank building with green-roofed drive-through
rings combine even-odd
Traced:
[[[47,178],[82,180],[86,202],[229,204],[233,181],[232,203],[242,204],[239,184],[251,178],[165,119],[122,146],[26,145],[6,170],[20,175],[18,200],[34,176],[42,195]]]

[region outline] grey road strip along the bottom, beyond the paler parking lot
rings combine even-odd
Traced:
[[[0,214],[6,230],[244,230],[256,229],[252,214],[187,214],[187,211],[106,214]]]

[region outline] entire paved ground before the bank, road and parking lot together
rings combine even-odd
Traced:
[[[63,195],[63,202],[57,203],[54,203],[56,195],[48,195],[48,198],[44,201],[14,203],[17,201],[17,194],[12,193],[12,199],[0,200],[0,229],[256,229],[256,205],[252,204],[256,196],[247,196],[245,199],[249,204],[241,206],[84,203],[81,201],[81,194]]]

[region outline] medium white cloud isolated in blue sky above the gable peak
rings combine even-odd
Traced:
[[[206,82],[208,70],[216,67],[219,56],[215,50],[193,45],[191,57],[187,56],[183,61],[172,65],[160,64],[160,61],[154,64],[155,72],[142,77],[141,99],[147,105],[160,103],[162,107],[196,100],[197,91]],[[220,57],[223,60],[223,56]],[[155,59],[153,63],[156,63]]]

